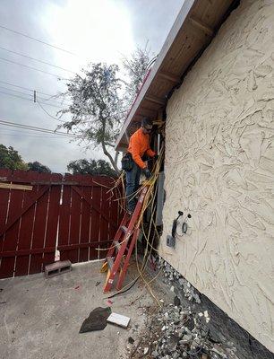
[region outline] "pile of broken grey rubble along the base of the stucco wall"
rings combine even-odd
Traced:
[[[201,300],[196,290],[167,262],[159,260],[174,303],[164,305],[152,316],[142,333],[141,344],[134,349],[133,358],[157,359],[236,359],[233,343],[217,343],[210,334],[210,314],[199,311]],[[178,289],[179,287],[179,289]],[[185,300],[187,299],[187,301]]]

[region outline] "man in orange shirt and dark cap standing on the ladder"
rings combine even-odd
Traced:
[[[147,162],[143,162],[141,157],[147,154],[150,157],[155,157],[156,153],[150,149],[150,133],[153,123],[150,118],[142,118],[141,128],[139,128],[130,138],[127,153],[132,157],[132,169],[126,171],[126,209],[132,215],[137,203],[135,192],[139,188],[141,171],[147,179],[150,178],[151,173],[148,169]]]

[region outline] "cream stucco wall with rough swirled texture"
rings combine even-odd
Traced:
[[[160,254],[274,352],[274,0],[231,13],[168,101],[166,135]],[[178,210],[193,219],[172,250]]]

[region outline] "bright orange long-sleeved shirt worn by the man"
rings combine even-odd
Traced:
[[[132,153],[133,161],[137,163],[141,169],[147,167],[146,163],[141,161],[141,157],[144,153],[148,154],[150,157],[154,157],[156,154],[150,149],[150,135],[145,135],[141,128],[131,136],[127,151]]]

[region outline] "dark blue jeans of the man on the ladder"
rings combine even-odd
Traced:
[[[133,212],[137,204],[137,199],[135,198],[135,192],[139,188],[141,168],[133,162],[133,170],[127,171],[126,173],[126,209],[129,212]]]

